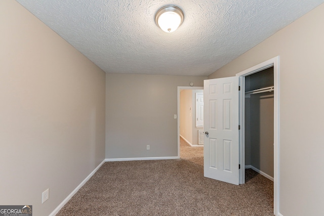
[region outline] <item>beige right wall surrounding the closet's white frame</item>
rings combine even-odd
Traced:
[[[280,56],[279,212],[322,215],[324,202],[324,4],[225,65],[209,78]]]

